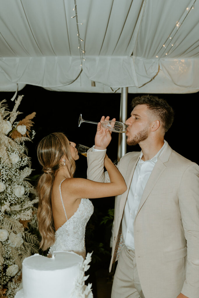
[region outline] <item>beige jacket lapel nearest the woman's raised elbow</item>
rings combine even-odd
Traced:
[[[141,152],[140,152],[140,154],[141,154]],[[127,172],[126,172],[126,176],[125,176],[125,179],[124,179],[126,184],[127,184],[127,190],[125,191],[125,193],[123,193],[121,195],[120,214],[119,214],[120,218],[121,218],[121,216],[123,214],[123,211],[124,211],[124,206],[125,206],[125,203],[126,203],[126,200],[127,200],[128,193],[129,193],[129,188],[130,188],[130,185],[131,185],[133,173],[135,171],[136,164],[137,164],[137,162],[140,158],[140,154],[138,155],[138,157],[137,156],[133,157],[130,160],[130,162],[128,164],[128,167],[127,167]]]

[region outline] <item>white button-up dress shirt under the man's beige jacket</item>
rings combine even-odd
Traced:
[[[134,221],[138,211],[138,207],[141,201],[142,194],[146,183],[151,175],[151,172],[161,156],[163,150],[168,146],[168,143],[164,140],[164,145],[158,151],[158,153],[150,160],[143,161],[141,156],[136,164],[133,178],[131,181],[127,202],[124,207],[124,217],[122,219],[122,236],[124,243],[127,247],[135,249],[134,244]]]

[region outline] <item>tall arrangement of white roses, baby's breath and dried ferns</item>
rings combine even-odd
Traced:
[[[31,233],[37,227],[38,198],[28,181],[32,169],[25,146],[35,135],[36,113],[16,121],[22,98],[18,96],[12,111],[6,100],[0,102],[0,297],[8,298],[20,288],[22,260],[37,253],[39,243]]]

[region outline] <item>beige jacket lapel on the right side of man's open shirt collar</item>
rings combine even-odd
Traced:
[[[150,192],[152,191],[154,185],[158,181],[160,175],[165,170],[166,165],[164,163],[168,161],[171,152],[172,152],[172,149],[168,145],[168,147],[165,148],[165,150],[161,154],[160,158],[156,162],[155,167],[153,168],[151,175],[149,176],[149,179],[148,179],[146,186],[144,188],[144,192],[142,194],[141,201],[140,201],[140,204],[138,207],[137,215],[138,215],[140,209],[142,208],[143,204],[145,203],[146,199],[148,198]],[[136,215],[136,217],[137,217],[137,215]]]

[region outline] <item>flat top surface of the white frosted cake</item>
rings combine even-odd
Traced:
[[[53,271],[82,264],[83,257],[74,252],[54,252],[51,258],[34,254],[23,261],[23,266],[40,271]]]

